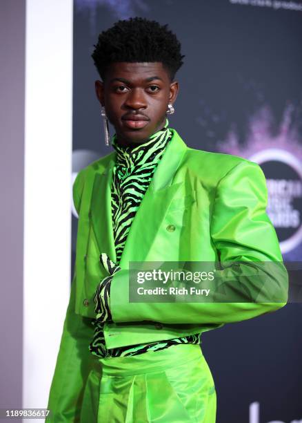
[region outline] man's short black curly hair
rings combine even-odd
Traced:
[[[181,43],[168,24],[134,17],[117,21],[101,32],[91,57],[102,79],[106,68],[114,62],[161,62],[171,81],[183,64]]]

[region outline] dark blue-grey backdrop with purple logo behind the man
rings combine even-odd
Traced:
[[[261,165],[283,259],[301,262],[302,2],[74,0],[73,177],[111,151],[94,93],[94,44],[99,32],[134,16],[168,23],[181,41],[185,59],[170,126],[190,147]],[[72,266],[76,234],[74,212]],[[217,422],[302,422],[301,325],[301,304],[292,301],[203,336]]]

